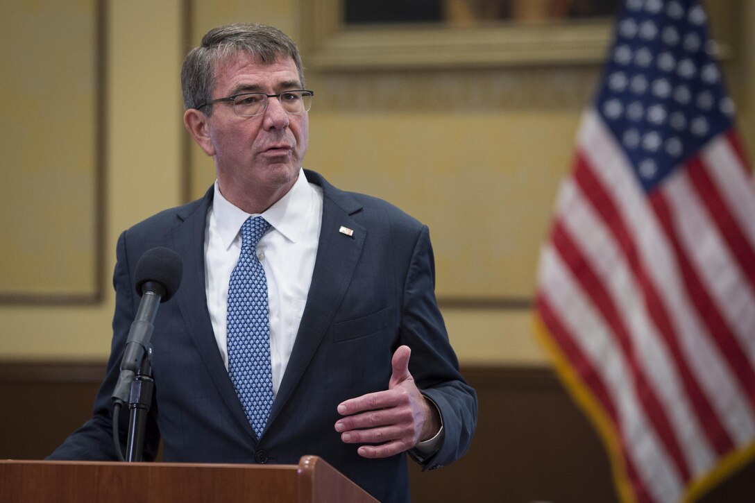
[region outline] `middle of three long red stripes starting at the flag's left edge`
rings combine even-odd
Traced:
[[[563,228],[561,221],[556,221],[551,236],[553,247],[562,256],[565,264],[572,270],[575,279],[581,283],[583,291],[590,297],[593,305],[602,314],[603,319],[608,323],[622,353],[624,360],[627,361],[633,375],[635,384],[636,400],[642,404],[649,421],[658,432],[658,440],[663,443],[664,448],[673,459],[676,469],[679,471],[683,480],[689,480],[689,467],[684,458],[682,449],[673,427],[668,420],[666,410],[658,400],[654,387],[647,381],[645,372],[637,361],[637,352],[633,347],[624,322],[619,316],[615,304],[611,301],[611,295],[606,291],[599,277],[595,274],[590,264],[582,255],[580,249],[572,241],[569,234]]]

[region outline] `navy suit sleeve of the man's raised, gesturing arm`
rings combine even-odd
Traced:
[[[430,233],[423,226],[406,276],[401,343],[411,347],[409,372],[439,409],[444,437],[438,452],[420,459],[423,469],[457,460],[470,446],[477,423],[477,396],[459,372],[458,360],[435,297],[435,264]]]

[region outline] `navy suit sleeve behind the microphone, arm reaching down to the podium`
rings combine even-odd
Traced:
[[[80,461],[115,461],[115,446],[112,440],[112,390],[118,381],[119,369],[125,348],[128,331],[136,314],[138,301],[134,295],[131,281],[131,266],[126,252],[126,232],[118,239],[116,247],[116,269],[112,283],[116,290],[116,310],[112,319],[112,345],[107,363],[105,378],[94,399],[92,417],[82,427],[75,430],[66,440],[48,456],[51,460]],[[154,408],[153,400],[153,408]],[[159,435],[157,434],[155,413],[147,419],[147,431],[144,442],[144,459],[153,460],[157,452]],[[125,450],[125,438],[128,434],[128,404],[122,407],[119,415],[119,431],[122,451]],[[124,452],[125,455],[125,452]]]

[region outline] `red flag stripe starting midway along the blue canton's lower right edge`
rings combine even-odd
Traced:
[[[710,180],[700,158],[695,157],[689,161],[687,173],[698,196],[704,202],[708,214],[716,221],[719,232],[729,244],[729,251],[744,271],[744,278],[749,280],[750,288],[755,292],[755,251],[750,247],[747,236],[744,236],[741,227],[737,225],[729,211],[729,205],[721,197],[718,187]]]

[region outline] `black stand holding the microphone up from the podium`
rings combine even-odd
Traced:
[[[125,461],[143,461],[144,430],[149,406],[152,403],[152,393],[155,380],[152,378],[152,346],[144,355],[139,372],[131,382],[131,393],[128,399],[128,437],[126,438]]]

